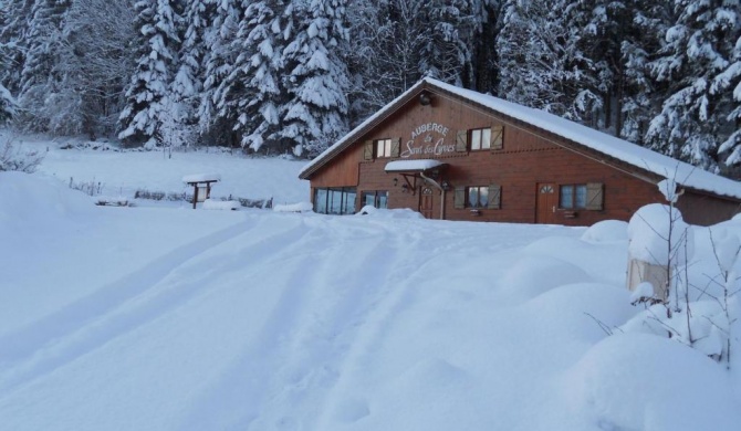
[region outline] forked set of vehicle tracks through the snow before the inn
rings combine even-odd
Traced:
[[[175,428],[323,429],[348,392],[343,377],[372,360],[395,316],[429,281],[427,270],[445,271],[439,266],[452,251],[486,252],[467,249],[466,235],[446,233],[445,225],[248,216],[0,338],[0,398],[114,340],[136,343],[125,337],[160,330],[161,317],[176,318],[168,327],[179,328],[176,311],[190,313],[195,301],[218,294],[247,299],[259,317],[249,319],[254,327],[230,333],[231,356],[170,412]],[[364,414],[359,402],[345,419]]]

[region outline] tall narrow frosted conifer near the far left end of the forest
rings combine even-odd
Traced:
[[[54,95],[65,78],[58,65],[65,52],[62,28],[70,4],[70,0],[35,0],[31,8],[18,96],[18,120],[25,129],[48,132],[58,114]]]

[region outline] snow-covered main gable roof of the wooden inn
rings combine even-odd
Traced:
[[[581,146],[609,156],[623,162],[633,165],[646,171],[656,174],[664,178],[675,178],[677,183],[697,190],[708,191],[719,196],[741,199],[741,182],[710,174],[701,168],[691,166],[683,161],[664,156],[648,148],[635,145],[615,136],[592,129],[581,124],[561,118],[540,109],[521,106],[504,99],[481,94],[472,90],[460,88],[432,78],[424,78],[406,91],[399,97],[378,111],[375,115],[363,122],[345,137],[323,151],[319,157],[309,162],[300,172],[301,178],[306,178],[314,170],[326,164],[332,157],[352,145],[369,126],[377,124],[393,112],[398,109],[401,101],[420,92],[422,88],[439,90],[458,97],[481,105],[501,115],[524,122],[534,127],[561,136]]]

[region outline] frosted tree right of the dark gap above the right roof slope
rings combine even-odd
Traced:
[[[584,52],[584,13],[567,0],[508,0],[499,34],[499,94],[573,120],[601,106],[594,64]]]

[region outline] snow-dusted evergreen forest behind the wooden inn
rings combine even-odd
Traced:
[[[425,76],[738,177],[739,0],[0,0],[0,123],[311,158]]]

